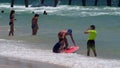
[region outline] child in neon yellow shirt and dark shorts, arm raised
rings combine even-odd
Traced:
[[[94,56],[97,56],[96,49],[95,49],[95,39],[97,36],[97,32],[95,30],[95,25],[91,25],[88,29],[84,31],[85,34],[88,34],[88,41],[87,41],[87,56],[90,56],[90,49],[93,50]]]

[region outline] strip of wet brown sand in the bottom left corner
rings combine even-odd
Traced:
[[[0,68],[69,68],[69,67],[38,61],[0,57]]]

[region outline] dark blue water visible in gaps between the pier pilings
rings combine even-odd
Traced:
[[[93,6],[94,2],[95,2],[95,0],[90,0],[90,1],[88,0],[88,1],[86,1],[86,5]],[[100,5],[106,6],[107,5],[106,2],[107,1],[105,1],[105,0],[99,0],[98,5],[99,6]],[[10,3],[10,0],[9,1],[8,0],[1,0],[1,3]],[[33,5],[38,4],[39,5],[40,3],[41,3],[40,0],[29,0],[29,4],[33,4]],[[53,5],[53,3],[54,3],[54,0],[44,0],[44,4],[46,4],[46,5]],[[117,6],[119,3],[119,0],[112,0],[111,3],[112,3],[112,6]],[[22,4],[23,5],[24,1],[23,0],[16,0],[15,4],[16,5]],[[82,0],[72,0],[71,4],[72,5],[82,5]],[[68,5],[68,0],[59,0],[58,5]]]

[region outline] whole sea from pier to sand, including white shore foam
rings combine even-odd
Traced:
[[[4,1],[4,0],[3,0]],[[37,0],[36,0],[37,1]],[[61,0],[62,2],[62,0]],[[61,4],[61,3],[60,3]],[[62,3],[64,4],[64,3]],[[69,66],[70,68],[119,68],[120,67],[120,8],[107,6],[58,5],[30,7],[0,3],[0,55]],[[16,11],[15,36],[9,37],[9,13]],[[43,15],[43,11],[48,15]],[[40,14],[37,36],[31,35],[32,12]],[[98,57],[86,56],[87,35],[84,30],[96,26]],[[79,51],[74,54],[54,54],[52,47],[58,41],[57,33],[72,29]],[[71,43],[70,38],[69,43]],[[59,59],[60,60],[59,60]],[[59,61],[58,61],[59,60]],[[66,63],[65,63],[66,62]]]

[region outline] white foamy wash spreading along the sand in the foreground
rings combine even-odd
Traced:
[[[0,39],[0,55],[52,64],[70,68],[119,68],[120,60],[86,57],[79,54],[55,54],[51,50],[25,48],[22,41]],[[4,45],[4,46],[2,46]],[[58,61],[59,60],[59,61]]]

